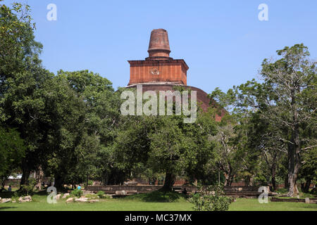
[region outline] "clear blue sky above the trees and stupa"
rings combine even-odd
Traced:
[[[317,58],[314,0],[20,2],[32,8],[45,68],[98,72],[115,89],[129,82],[127,60],[148,56],[151,30],[158,28],[168,31],[170,56],[189,65],[187,84],[207,93],[259,77],[262,60],[284,46],[304,43]],[[46,20],[51,3],[57,21]],[[268,5],[268,21],[258,19],[262,3]]]

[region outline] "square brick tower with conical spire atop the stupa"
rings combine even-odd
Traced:
[[[168,32],[152,30],[149,41],[149,57],[145,60],[129,60],[130,82],[135,84],[180,84],[187,85],[185,60],[170,58]]]

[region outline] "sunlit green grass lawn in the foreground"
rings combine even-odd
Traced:
[[[0,195],[1,196],[1,195]],[[1,198],[6,198],[2,194]],[[46,195],[33,195],[31,203],[2,203],[0,211],[190,211],[192,204],[182,195],[168,193],[148,193],[131,195],[127,198],[101,199],[99,203],[46,203]],[[257,199],[238,198],[230,205],[234,211],[317,211],[317,204],[268,203],[260,204]]]

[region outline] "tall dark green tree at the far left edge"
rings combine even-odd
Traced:
[[[27,184],[30,172],[40,164],[46,132],[42,92],[53,76],[42,68],[42,45],[35,41],[31,22],[29,6],[1,4],[0,120],[5,127],[16,128],[26,146],[21,185]]]

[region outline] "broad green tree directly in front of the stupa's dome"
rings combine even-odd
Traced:
[[[171,190],[177,176],[204,177],[205,166],[213,158],[209,137],[216,134],[216,127],[210,114],[198,113],[193,124],[176,115],[125,116],[119,130],[116,166],[126,174],[142,167],[165,173],[164,191]]]

